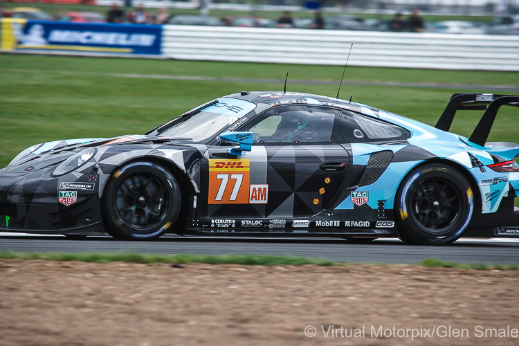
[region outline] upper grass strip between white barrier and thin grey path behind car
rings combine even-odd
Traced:
[[[355,49],[352,55],[355,54]],[[16,71],[11,71],[16,70]],[[296,80],[326,80],[337,84],[343,66],[302,64],[260,64],[253,62],[203,62],[190,60],[143,60],[102,57],[62,57],[35,55],[0,55],[0,73],[30,74],[52,72],[69,78],[83,78],[84,73],[137,73],[163,75],[195,75],[208,77],[266,78],[284,80],[288,86]],[[385,67],[348,66],[348,80],[367,82],[420,82],[444,84],[517,85],[517,73],[499,71],[447,71],[424,69],[393,69]],[[139,80],[136,80],[138,82]],[[282,85],[278,86],[278,89]],[[336,86],[334,86],[336,89]],[[337,92],[336,92],[337,93]]]

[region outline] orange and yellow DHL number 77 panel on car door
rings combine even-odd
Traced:
[[[209,204],[248,204],[248,159],[209,160]]]

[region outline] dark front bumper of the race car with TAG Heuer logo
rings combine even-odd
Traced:
[[[73,172],[55,178],[52,171],[53,167],[27,173],[0,173],[0,231],[103,233],[98,184],[89,181],[89,174]],[[88,183],[89,189],[80,190],[78,185],[70,188],[63,182]]]

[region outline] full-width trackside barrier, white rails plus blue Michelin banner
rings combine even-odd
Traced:
[[[179,60],[519,71],[519,36],[1,19],[0,50]]]

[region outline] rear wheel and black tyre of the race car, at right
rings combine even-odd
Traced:
[[[406,176],[394,206],[403,242],[446,245],[461,237],[471,223],[474,197],[461,172],[433,163]]]

